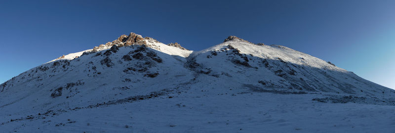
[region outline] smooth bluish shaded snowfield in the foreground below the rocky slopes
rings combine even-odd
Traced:
[[[190,90],[0,125],[2,132],[395,133],[395,106],[321,103],[319,94]],[[168,98],[172,96],[172,98]],[[1,120],[14,118],[2,115]]]

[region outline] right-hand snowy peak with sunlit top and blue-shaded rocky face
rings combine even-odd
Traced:
[[[374,84],[324,60],[281,45],[231,40],[192,58],[199,71],[254,88],[392,96],[394,90]],[[245,80],[240,80],[245,79]]]

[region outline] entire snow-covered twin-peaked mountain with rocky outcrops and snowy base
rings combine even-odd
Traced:
[[[93,49],[63,55],[1,84],[0,129],[6,132],[257,132],[266,127],[258,125],[275,118],[260,119],[250,111],[260,112],[259,116],[273,113],[271,117],[280,117],[281,111],[276,113],[276,109],[267,108],[276,105],[277,109],[278,106],[289,109],[291,113],[285,111],[289,116],[310,113],[319,117],[311,105],[344,112],[348,111],[339,106],[353,106],[354,111],[371,106],[393,110],[394,95],[393,89],[281,45],[253,44],[230,36],[222,44],[192,51],[177,43],[162,44],[130,33]],[[268,101],[271,102],[265,103]],[[209,114],[199,114],[197,110]],[[232,115],[224,114],[229,110],[233,110]],[[375,111],[379,110],[371,112]],[[136,112],[140,114],[133,115]],[[330,119],[332,115],[323,117]],[[255,120],[244,120],[246,117]],[[394,118],[385,120],[393,125]],[[213,120],[206,122],[206,119]],[[229,119],[235,123],[229,125]],[[289,120],[303,123],[297,117]],[[284,121],[279,119],[278,123],[267,126],[281,125]],[[333,120],[328,121],[323,125],[331,125]],[[285,124],[284,129],[264,131],[320,131],[316,130],[319,126],[308,126],[314,122],[296,125],[299,127]],[[219,129],[202,128],[207,123],[208,127]],[[354,124],[350,127],[357,128],[351,131],[366,131],[366,126]],[[384,132],[395,129],[391,123],[381,126]],[[332,125],[329,131],[344,128]]]

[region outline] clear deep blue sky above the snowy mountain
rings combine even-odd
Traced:
[[[281,44],[395,89],[395,0],[0,0],[0,82],[130,32]]]

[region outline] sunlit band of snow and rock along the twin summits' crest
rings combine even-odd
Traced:
[[[231,45],[232,42],[241,43],[242,45],[233,44],[233,45],[237,45],[237,47],[242,47],[242,48],[240,48],[241,51],[238,48],[233,47],[233,45]],[[231,43],[231,44],[229,44],[229,43]],[[87,50],[83,50],[80,52],[63,55],[63,56],[56,58],[56,59],[54,59],[50,62],[47,62],[47,63],[51,63],[51,62],[61,60],[61,59],[74,60],[74,59],[79,58],[80,56],[88,55],[91,53],[96,53],[97,55],[95,55],[95,56],[98,56],[98,54],[102,54],[102,52],[105,50],[106,51],[103,54],[106,54],[108,56],[108,54],[112,53],[110,51],[111,51],[111,48],[114,47],[114,45],[116,45],[117,48],[124,47],[124,46],[131,46],[131,45],[140,45],[143,47],[153,48],[155,50],[158,50],[160,52],[163,52],[163,53],[166,53],[169,55],[180,56],[185,59],[190,58],[189,56],[191,56],[191,55],[194,56],[193,58],[195,58],[199,54],[205,54],[206,52],[211,52],[211,55],[205,56],[206,58],[210,58],[213,56],[213,54],[217,54],[216,53],[217,51],[221,52],[221,51],[225,51],[225,50],[233,50],[233,51],[236,51],[236,54],[238,54],[240,57],[244,58],[244,60],[245,60],[244,62],[240,61],[240,60],[236,60],[237,61],[236,64],[244,64],[245,66],[249,65],[248,59],[246,59],[248,57],[242,56],[241,54],[250,54],[253,57],[254,55],[252,54],[252,52],[255,52],[254,53],[255,56],[258,56],[258,57],[265,59],[265,60],[272,59],[272,60],[278,60],[280,62],[289,62],[289,63],[293,63],[296,65],[306,65],[306,66],[310,66],[310,67],[314,67],[314,68],[320,68],[320,69],[322,68],[325,70],[330,69],[330,70],[344,72],[344,73],[352,73],[352,72],[348,72],[342,68],[336,67],[334,64],[330,63],[329,61],[323,61],[323,60],[318,59],[318,58],[311,56],[309,54],[306,54],[306,53],[303,53],[300,51],[296,51],[294,49],[291,49],[291,48],[288,48],[288,47],[285,47],[282,45],[265,45],[265,44],[261,44],[261,43],[253,44],[253,43],[250,43],[250,42],[245,41],[243,39],[240,39],[236,36],[229,36],[222,44],[214,45],[214,46],[211,46],[209,48],[206,48],[206,49],[203,49],[200,51],[192,51],[192,50],[185,49],[184,47],[182,47],[180,44],[177,44],[177,43],[166,45],[166,44],[162,44],[162,43],[158,42],[157,40],[155,40],[153,38],[149,38],[149,37],[143,38],[141,35],[138,35],[135,33],[130,33],[129,36],[121,35],[117,40],[114,40],[113,42],[108,42],[106,44],[100,44],[99,46],[95,46],[93,49],[87,49]],[[254,50],[246,48],[245,45],[252,46],[255,49],[259,49],[262,47],[265,47],[267,49],[261,50],[260,52],[256,52]],[[166,47],[166,46],[170,46],[170,47]],[[160,47],[164,47],[164,48],[160,49]],[[174,48],[171,48],[171,47],[174,47]],[[224,47],[227,47],[227,48],[224,48]],[[107,50],[107,49],[110,49],[110,50]],[[277,49],[276,52],[280,52],[282,55],[277,54],[276,57],[274,57],[273,55],[271,55],[274,53],[272,51],[268,51],[268,49],[269,50]],[[246,51],[244,51],[244,50],[246,50]],[[116,52],[114,50],[112,50],[112,51]],[[267,52],[268,54],[266,54],[265,52]],[[291,52],[292,52],[292,54],[298,54],[300,57],[294,56],[290,59],[287,59],[287,57],[291,56],[289,54]],[[259,55],[259,54],[261,54],[261,55]],[[283,56],[283,55],[286,55],[286,56]],[[302,56],[306,56],[308,59],[310,59],[309,61],[311,61],[311,62],[305,62],[306,57],[304,58]],[[283,59],[285,59],[285,61]],[[326,63],[323,63],[323,62],[326,62]],[[289,66],[286,66],[286,67],[289,68]],[[294,71],[294,70],[292,70],[292,71]],[[293,72],[291,72],[291,73],[293,73]],[[354,74],[354,73],[352,73],[352,74]],[[1,86],[2,86],[1,90],[3,90],[5,88],[7,82],[8,81],[1,84]]]

